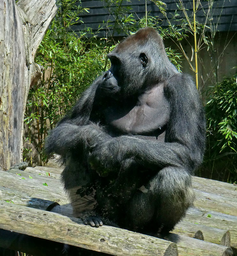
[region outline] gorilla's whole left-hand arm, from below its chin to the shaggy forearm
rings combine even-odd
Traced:
[[[71,113],[66,115],[50,132],[45,143],[45,152],[55,152],[65,156],[69,150],[83,148],[87,150],[100,140],[110,138],[102,129],[90,122],[90,114],[95,101],[96,89],[100,83],[98,77],[82,94]]]

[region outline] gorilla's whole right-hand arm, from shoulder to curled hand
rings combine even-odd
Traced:
[[[205,146],[205,117],[198,92],[191,78],[184,74],[170,77],[164,96],[171,114],[165,142],[121,136],[91,148],[89,163],[102,176],[116,171],[127,159],[145,169],[174,166],[192,172],[202,162]]]

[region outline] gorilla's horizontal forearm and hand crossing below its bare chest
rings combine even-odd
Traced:
[[[129,164],[125,166],[129,162],[141,166],[143,171],[170,166],[193,172],[201,161],[201,154],[191,152],[183,144],[149,141],[126,135],[96,144],[89,156],[89,163],[101,176],[117,172],[121,167],[129,171]]]

